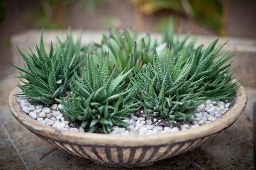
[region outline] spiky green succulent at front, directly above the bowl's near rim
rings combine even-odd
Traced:
[[[61,101],[64,105],[61,112],[72,121],[83,121],[83,127],[88,125],[90,132],[99,126],[104,133],[109,133],[113,125],[127,126],[122,119],[140,107],[133,98],[133,88],[122,90],[132,69],[127,72],[124,69],[116,77],[116,68],[109,71],[108,57],[101,57],[97,68],[91,57],[86,60],[81,78],[74,76],[71,95]]]

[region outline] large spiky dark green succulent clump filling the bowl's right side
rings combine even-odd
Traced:
[[[223,45],[215,48],[218,40],[205,50],[199,46],[188,58],[183,48],[177,62],[173,62],[171,50],[162,62],[155,52],[153,66],[145,72],[136,71],[131,80],[141,96],[143,108],[151,116],[162,116],[173,122],[183,120],[194,113],[194,108],[207,99],[230,99],[239,88],[239,82],[231,82],[233,71],[230,64],[224,65],[234,54],[218,53]],[[216,59],[216,60],[214,60]]]

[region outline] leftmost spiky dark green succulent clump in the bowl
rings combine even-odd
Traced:
[[[76,72],[81,63],[79,51],[75,50],[76,45],[70,38],[68,37],[56,50],[51,43],[49,54],[44,48],[43,33],[39,47],[36,45],[37,54],[31,49],[25,54],[18,48],[26,62],[25,67],[21,68],[10,61],[15,68],[24,73],[15,76],[23,79],[23,85],[18,85],[21,89],[18,96],[32,103],[50,105],[69,88],[73,72]]]

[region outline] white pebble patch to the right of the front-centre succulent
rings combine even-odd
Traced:
[[[177,122],[174,122],[170,127],[161,126],[159,125],[162,121],[161,119],[157,120],[157,118],[154,118],[152,121],[151,119],[137,117],[132,114],[124,120],[125,122],[129,123],[128,127],[124,128],[113,126],[110,134],[144,135],[151,133],[169,133],[177,132],[180,130],[193,129],[206,123],[210,123],[224,115],[228,111],[230,106],[230,103],[228,101],[225,102],[207,100],[206,102],[204,102],[204,104],[201,104],[195,108],[196,113],[190,117],[192,124],[183,124],[179,126],[177,125]]]

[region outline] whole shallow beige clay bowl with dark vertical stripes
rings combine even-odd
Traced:
[[[24,113],[16,97],[15,88],[9,96],[13,116],[40,138],[75,156],[90,159],[109,167],[143,167],[157,161],[185,153],[217,136],[239,118],[247,103],[243,87],[236,93],[233,107],[221,118],[195,129],[175,133],[115,136],[81,133],[43,125]]]

